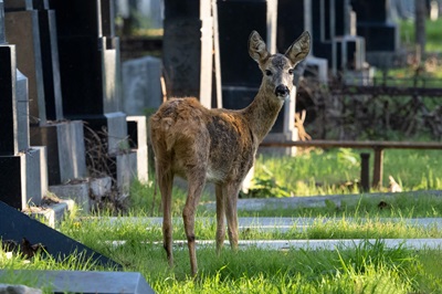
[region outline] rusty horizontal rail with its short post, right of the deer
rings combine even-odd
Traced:
[[[442,149],[442,143],[433,141],[354,141],[354,140],[293,140],[293,141],[267,141],[261,147],[318,147],[318,148],[357,148],[373,149],[375,166],[372,187],[382,186],[383,149]]]

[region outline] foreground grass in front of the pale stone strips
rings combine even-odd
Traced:
[[[98,223],[94,225],[101,227]],[[92,230],[91,234],[97,230]],[[442,285],[440,249],[419,252],[402,245],[388,249],[382,240],[335,251],[250,248],[233,252],[227,249],[220,256],[213,246],[200,248],[197,279],[188,275],[186,249],[175,249],[176,264],[169,269],[162,248],[141,244],[141,240],[146,241],[146,238],[135,234],[125,245],[107,245],[105,252],[123,264],[124,271],[141,272],[158,293],[439,293]],[[101,239],[88,239],[88,242],[95,250],[103,249]],[[7,270],[103,270],[91,263],[81,264],[74,256],[65,263],[57,263],[38,255],[23,265],[21,256],[4,259],[2,252],[0,266]],[[30,286],[36,283],[32,276],[12,274],[3,276],[0,282]]]

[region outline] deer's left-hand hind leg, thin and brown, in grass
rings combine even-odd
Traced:
[[[173,265],[173,253],[172,253],[172,216],[171,216],[171,202],[172,202],[172,185],[173,174],[169,168],[165,166],[156,165],[157,180],[159,190],[161,192],[161,204],[162,204],[162,245],[167,253],[169,266]]]

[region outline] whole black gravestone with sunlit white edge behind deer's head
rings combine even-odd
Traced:
[[[223,107],[244,108],[259,92],[262,73],[249,55],[248,40],[255,30],[266,43],[267,51],[276,53],[276,1],[273,0],[228,0],[218,1],[219,39],[221,59],[221,81]],[[304,27],[301,27],[303,30]],[[287,28],[291,30],[292,28]],[[299,33],[301,34],[301,33]],[[291,35],[291,42],[298,35]],[[287,50],[290,44],[281,50]],[[266,140],[292,140],[296,138],[294,128],[295,91],[280,112]],[[296,148],[269,149],[271,153],[293,155]]]

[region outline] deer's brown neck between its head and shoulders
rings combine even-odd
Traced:
[[[284,102],[275,98],[271,91],[260,87],[253,102],[244,108],[244,118],[249,122],[250,129],[259,143],[269,134],[275,124]]]

